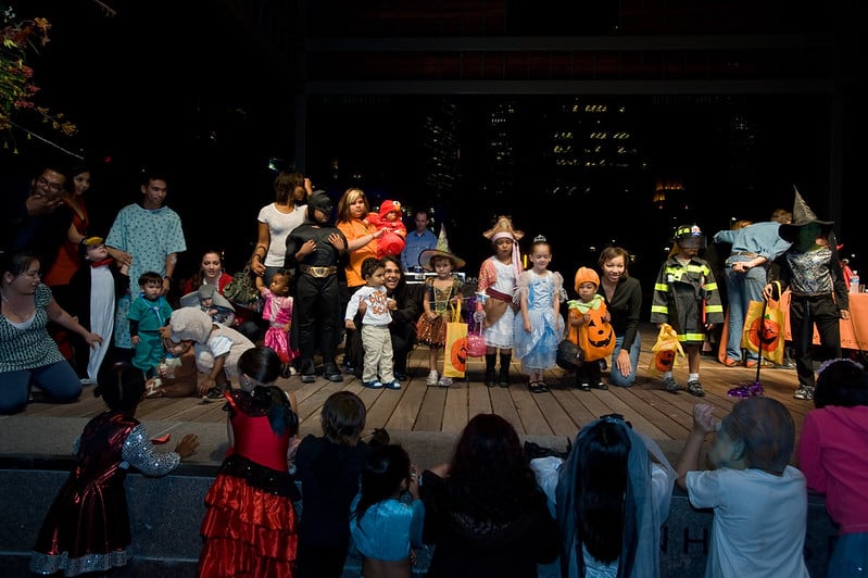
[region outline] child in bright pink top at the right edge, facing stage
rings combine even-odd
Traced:
[[[839,529],[826,576],[861,576],[868,568],[868,372],[851,360],[825,363],[814,405],[796,454],[808,488],[826,494]]]

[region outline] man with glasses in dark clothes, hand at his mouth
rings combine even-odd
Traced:
[[[2,247],[10,252],[32,251],[48,271],[66,238],[73,221],[66,196],[66,169],[58,162],[46,162],[33,174],[29,186],[2,194]]]

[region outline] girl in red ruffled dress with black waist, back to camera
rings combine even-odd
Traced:
[[[301,499],[289,474],[299,418],[291,393],[274,386],[280,359],[267,347],[238,360],[241,389],[224,392],[229,450],[205,495],[199,576],[291,578]],[[349,514],[348,514],[349,516]]]

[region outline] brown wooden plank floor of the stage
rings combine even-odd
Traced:
[[[335,391],[342,389],[357,393],[367,405],[367,429],[385,427],[391,431],[450,432],[457,434],[468,419],[478,413],[498,413],[508,419],[520,435],[554,436],[574,439],[579,428],[589,420],[604,414],[622,414],[633,427],[658,440],[680,443],[687,438],[692,423],[691,412],[699,401],[714,404],[717,415],[729,412],[737,401],[727,397],[733,386],[749,385],[756,380],[756,369],[746,367],[725,367],[715,357],[703,356],[701,380],[705,398],[694,398],[685,391],[678,394],[666,392],[658,379],[646,375],[651,347],[656,330],[643,325],[642,354],[640,356],[640,380],[631,388],[609,387],[608,391],[580,391],[575,387],[571,375],[564,376],[561,368],[546,375],[549,393],[530,393],[526,378],[514,360],[513,384],[508,388],[486,387],[482,382],[483,361],[473,359],[468,363],[468,379],[456,380],[450,388],[428,387],[428,349],[417,347],[411,355],[408,367],[412,377],[403,389],[372,390],[364,388],[360,379],[344,376],[344,381],[334,384],[317,376],[314,384],[302,384],[300,377],[281,379],[279,385],[293,391],[300,405],[300,431],[319,434],[319,412],[323,402]],[[339,356],[340,359],[340,356]],[[687,362],[676,368],[676,378],[687,382]],[[563,377],[563,379],[562,379]],[[605,373],[604,373],[605,379]],[[792,413],[796,432],[801,431],[805,414],[814,407],[810,401],[793,398],[796,388],[794,369],[763,368],[759,381],[765,395],[781,401]],[[136,416],[141,420],[168,420],[218,424],[226,417],[221,403],[205,403],[194,398],[146,399],[139,405]],[[90,395],[85,388],[81,399],[68,405],[32,403],[23,415],[91,417],[103,410],[101,399]]]

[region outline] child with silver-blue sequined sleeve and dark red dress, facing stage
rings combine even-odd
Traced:
[[[155,451],[135,417],[143,393],[144,376],[136,367],[116,364],[100,372],[93,395],[109,410],[88,422],[75,441],[75,465],[39,530],[32,571],[76,576],[128,562],[127,470],[165,476],[199,447],[199,438],[188,434],[174,452]]]

